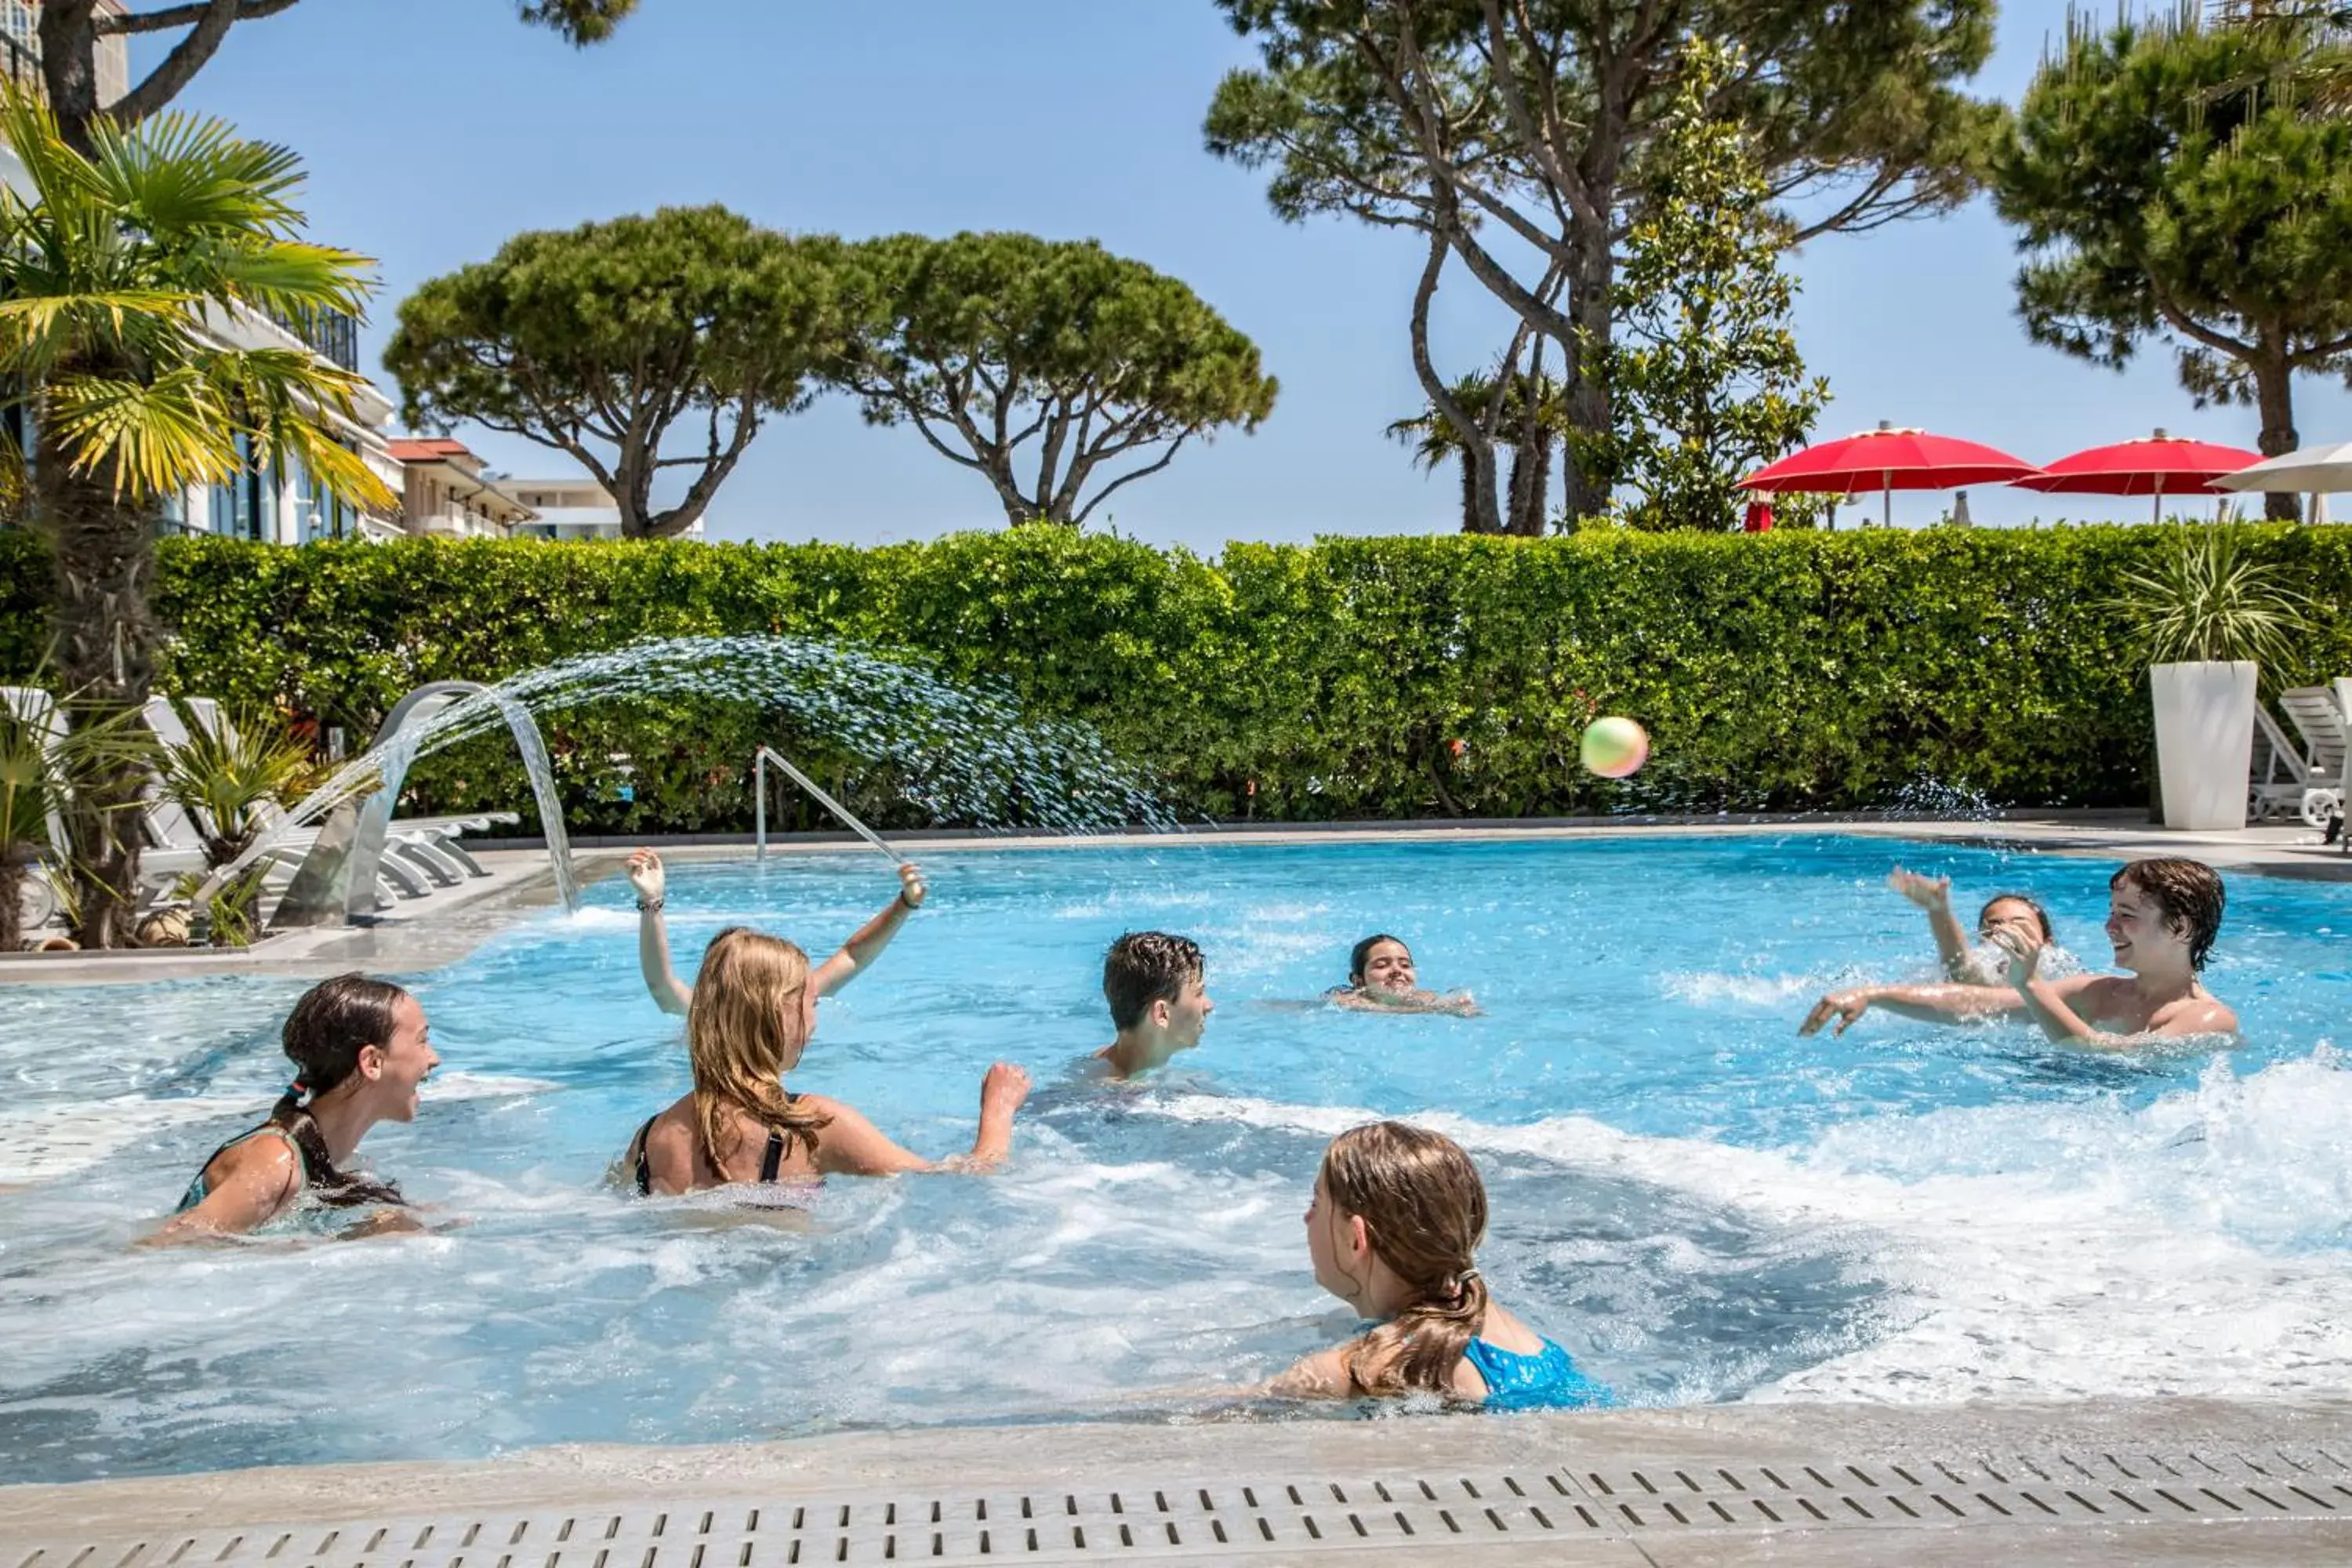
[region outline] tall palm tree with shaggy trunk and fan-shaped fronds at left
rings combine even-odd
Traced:
[[[31,515],[54,559],[52,658],[71,722],[85,726],[146,705],[162,496],[299,461],[346,501],[390,505],[332,425],[350,418],[360,376],[214,334],[240,310],[358,313],[369,261],[296,240],[299,160],[219,120],[101,120],[80,153],[45,103],[7,89],[0,136],[33,186],[33,200],[0,190],[0,411],[33,430]],[[14,442],[0,444],[0,470],[26,487]],[[73,797],[85,947],[129,940],[139,842],[122,825],[146,783],[125,762]]]

